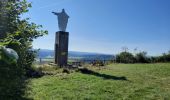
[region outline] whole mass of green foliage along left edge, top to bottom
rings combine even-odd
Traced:
[[[0,46],[16,51],[19,58],[17,63],[7,63],[11,58],[0,48],[0,98],[3,100],[22,100],[21,92],[24,87],[23,79],[25,79],[23,77],[31,69],[36,56],[32,42],[48,32],[41,30],[41,25],[30,23],[29,18],[20,18],[31,7],[31,4],[26,0],[1,0],[1,5],[4,4],[2,1],[6,1],[6,3],[3,5],[5,16],[0,12],[0,18],[3,15],[3,20],[0,19],[0,21],[4,22],[0,25],[2,26],[0,34],[3,34],[3,38],[0,38]],[[2,57],[6,61],[2,60]]]

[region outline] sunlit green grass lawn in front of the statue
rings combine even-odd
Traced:
[[[170,63],[112,64],[88,69],[94,73],[74,72],[30,79],[25,97],[35,100],[170,99]]]

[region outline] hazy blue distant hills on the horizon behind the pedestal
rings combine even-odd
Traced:
[[[90,60],[90,59],[110,60],[114,58],[113,55],[109,55],[109,54],[78,52],[78,51],[69,51],[68,57],[72,59],[86,59],[86,60]],[[38,58],[54,58],[54,50],[41,49],[38,52]]]

